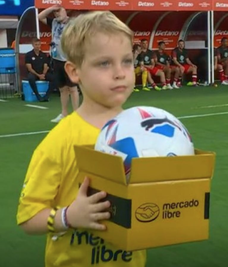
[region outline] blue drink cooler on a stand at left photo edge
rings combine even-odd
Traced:
[[[0,48],[0,73],[15,73],[14,49]]]

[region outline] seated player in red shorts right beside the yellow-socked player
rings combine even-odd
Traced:
[[[152,76],[160,77],[162,89],[166,90],[167,86],[165,74],[162,70],[159,70],[157,67],[155,67],[155,62],[152,58],[152,51],[148,49],[148,42],[146,39],[141,40],[141,49],[142,51],[139,56],[141,68],[146,68]]]

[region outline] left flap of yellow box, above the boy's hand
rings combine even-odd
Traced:
[[[95,151],[91,146],[74,146],[74,150],[79,170],[104,177],[115,183],[126,184],[121,157]]]

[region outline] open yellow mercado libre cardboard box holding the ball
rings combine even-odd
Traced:
[[[208,239],[210,181],[215,154],[134,158],[126,183],[122,158],[76,146],[79,183],[88,176],[89,195],[108,193],[107,231],[93,234],[124,250]]]

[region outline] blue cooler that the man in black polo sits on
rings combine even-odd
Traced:
[[[40,96],[45,96],[48,90],[49,81],[36,81],[37,90]],[[38,101],[36,95],[30,87],[29,81],[22,80],[22,90],[24,93],[25,101],[36,102]]]

